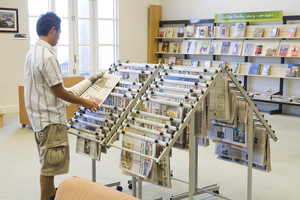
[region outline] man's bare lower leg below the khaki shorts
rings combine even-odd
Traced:
[[[56,193],[54,187],[54,176],[40,175],[41,200],[49,200]]]

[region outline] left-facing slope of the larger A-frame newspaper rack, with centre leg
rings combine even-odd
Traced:
[[[186,127],[189,125],[189,138],[194,138],[194,123],[195,112],[200,108],[202,102],[210,91],[211,86],[214,84],[215,79],[219,76],[222,69],[205,69],[199,67],[182,67],[182,66],[163,66],[163,70],[155,78],[154,82],[150,85],[146,93],[140,98],[137,105],[131,110],[127,119],[122,123],[108,146],[119,148],[123,152],[133,153],[138,156],[145,157],[155,161],[158,165],[166,165],[168,163],[165,159],[170,154],[172,147],[178,141],[178,138],[185,132]],[[178,86],[181,87],[178,87]],[[164,91],[169,91],[165,93]],[[171,91],[171,92],[170,92]],[[181,112],[186,110],[184,118],[178,116],[165,116],[162,114],[155,114],[143,111],[145,103],[164,104],[166,106],[181,108]],[[150,119],[156,120],[150,120]],[[165,123],[159,123],[162,120]],[[156,121],[156,122],[155,122]],[[150,127],[159,127],[160,131],[147,129],[145,126],[141,127],[138,124],[147,124]],[[128,131],[129,129],[129,131]],[[147,133],[147,136],[140,133]],[[124,137],[138,138],[151,143],[155,143],[163,148],[163,151],[157,157],[149,156],[138,151],[134,151],[124,146],[117,146],[114,141],[118,138],[119,134]],[[151,137],[150,135],[154,137]],[[189,194],[183,194],[180,198],[185,198],[205,192],[212,193],[218,191],[219,187],[214,184],[203,189],[197,188],[197,140],[190,139],[189,145]],[[124,144],[124,143],[123,143]],[[156,164],[155,163],[155,164]],[[133,178],[133,196],[136,196],[136,179]],[[138,178],[138,198],[142,198],[142,179]]]

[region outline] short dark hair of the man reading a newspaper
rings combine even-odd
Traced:
[[[41,15],[36,23],[38,36],[47,36],[52,27],[55,27],[56,30],[60,30],[60,22],[60,18],[53,12],[47,12]]]

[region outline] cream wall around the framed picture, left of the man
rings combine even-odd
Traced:
[[[0,7],[17,8],[19,33],[28,36],[26,0],[1,0]],[[23,85],[24,60],[29,49],[29,40],[15,40],[14,33],[0,33],[0,110],[17,112],[18,85]]]

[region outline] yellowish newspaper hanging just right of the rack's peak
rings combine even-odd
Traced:
[[[226,73],[221,73],[209,92],[209,116],[212,119],[230,120],[229,86]]]

